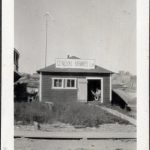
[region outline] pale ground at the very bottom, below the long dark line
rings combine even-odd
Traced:
[[[15,150],[136,150],[135,140],[15,139]]]

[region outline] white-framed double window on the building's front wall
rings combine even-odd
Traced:
[[[53,89],[75,89],[75,78],[52,78]]]

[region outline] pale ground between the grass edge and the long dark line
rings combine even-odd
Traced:
[[[41,130],[29,125],[15,126],[14,135],[37,138],[136,138],[136,127],[126,124],[103,124],[98,128],[77,129],[68,124],[56,123],[43,124]]]

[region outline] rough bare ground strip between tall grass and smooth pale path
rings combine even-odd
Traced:
[[[95,131],[95,132],[136,132],[136,126],[126,124],[102,124],[99,127],[86,127],[72,126],[61,122],[53,124],[41,124],[40,131]],[[33,125],[17,125],[15,131],[35,131],[36,128]]]

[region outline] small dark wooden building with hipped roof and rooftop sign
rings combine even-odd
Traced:
[[[112,99],[113,72],[95,65],[93,60],[57,59],[55,64],[37,72],[40,74],[40,101],[93,101],[92,91],[96,89],[101,91],[101,103]]]

